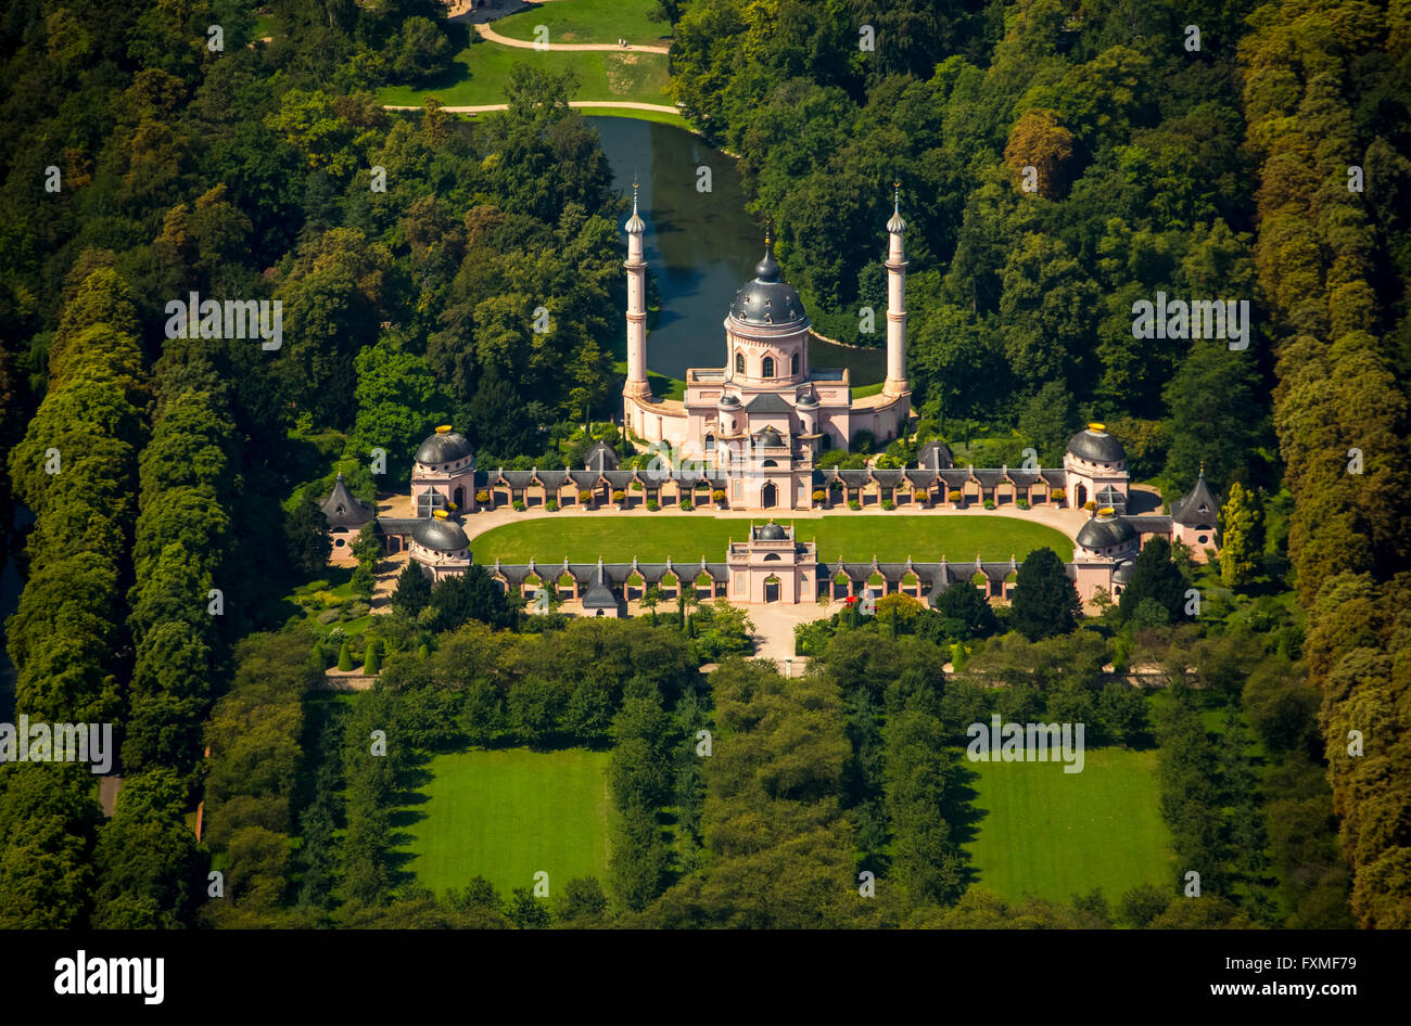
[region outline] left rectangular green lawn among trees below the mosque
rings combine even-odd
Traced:
[[[574,877],[607,885],[608,753],[461,751],[428,767],[428,801],[409,827],[406,870],[436,894],[484,877],[501,895],[549,874],[550,895]]]

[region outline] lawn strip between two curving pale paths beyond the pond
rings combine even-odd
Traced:
[[[535,51],[477,42],[456,55],[456,69],[444,82],[422,89],[415,86],[387,86],[382,103],[419,106],[423,96],[435,96],[449,107],[471,107],[504,103],[504,83],[509,69],[532,62],[535,68],[553,72],[573,72],[577,87],[570,100],[635,100],[638,103],[670,104],[662,93],[666,85],[666,56],[662,54]],[[614,111],[631,116],[632,111]],[[636,111],[645,113],[645,111]]]

